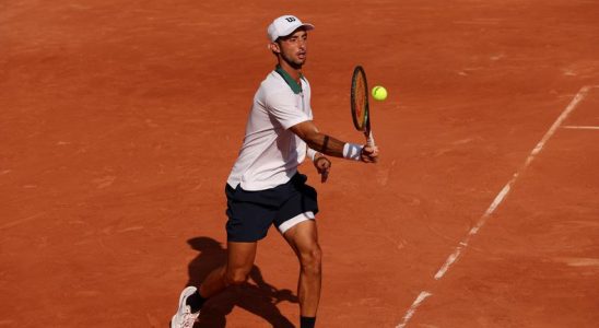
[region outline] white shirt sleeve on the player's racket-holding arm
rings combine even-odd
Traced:
[[[309,120],[309,117],[296,106],[293,94],[279,92],[267,96],[267,110],[286,130],[296,124]]]

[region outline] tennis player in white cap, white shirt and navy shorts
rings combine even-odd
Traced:
[[[339,141],[314,125],[310,85],[302,74],[310,30],[314,25],[293,15],[275,19],[267,30],[268,47],[278,66],[254,96],[242,150],[226,181],[227,262],[211,272],[199,289],[187,286],[181,292],[172,328],[192,327],[208,298],[247,280],[257,243],[271,225],[300,260],[301,327],[315,326],[321,283],[315,221],[318,204],[316,190],[306,185],[297,166],[310,159],[324,183],[331,168],[325,154],[374,163],[378,150]]]

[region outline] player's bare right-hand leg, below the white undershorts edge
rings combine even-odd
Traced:
[[[321,250],[316,221],[306,220],[287,230],[283,236],[300,260],[297,296],[302,317],[314,318],[320,300]]]

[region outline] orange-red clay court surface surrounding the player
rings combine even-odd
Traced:
[[[319,192],[318,327],[597,327],[599,2],[0,0],[0,327],[167,327],[225,259],[224,184],[274,67],[316,30],[315,122],[377,165]],[[275,230],[197,327],[296,327]]]

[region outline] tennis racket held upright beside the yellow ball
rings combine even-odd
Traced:
[[[364,132],[366,144],[375,147],[371,130],[371,110],[368,107],[368,83],[366,73],[361,66],[356,66],[352,75],[351,109],[353,125],[356,130]]]

